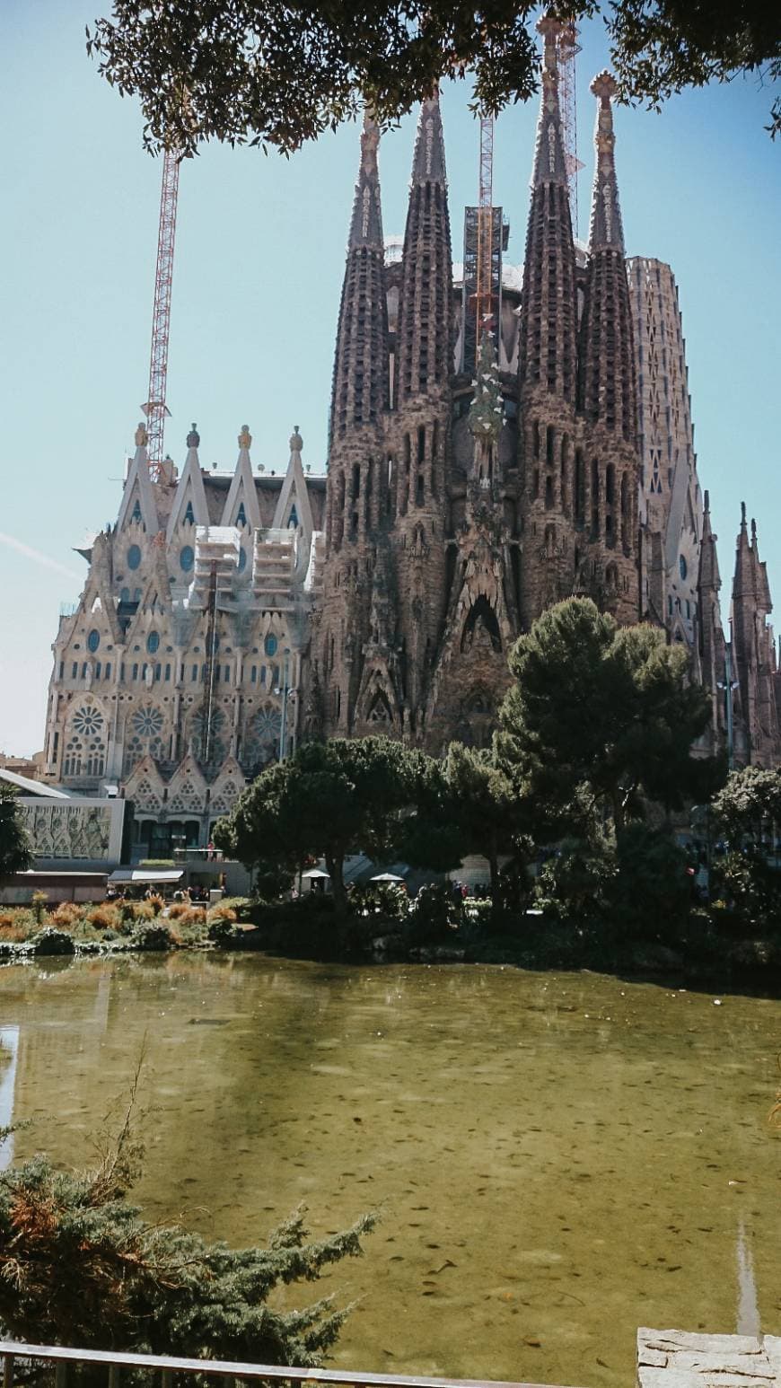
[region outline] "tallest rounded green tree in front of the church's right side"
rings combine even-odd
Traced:
[[[619,629],[587,598],[548,608],[510,652],[499,752],[541,804],[572,805],[585,790],[616,833],[641,797],[680,808],[723,775],[691,756],[709,702],[688,658],[649,626]]]

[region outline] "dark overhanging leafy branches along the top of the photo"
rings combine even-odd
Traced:
[[[652,108],[687,86],[781,75],[769,0],[567,0],[559,10],[578,22],[602,17],[621,96]],[[494,114],[529,100],[537,11],[530,0],[114,0],[87,28],[87,51],[111,85],[139,97],[150,150],[193,154],[218,139],[290,154],[363,101],[393,125],[445,78],[473,78],[476,105]],[[769,128],[781,129],[780,99]]]

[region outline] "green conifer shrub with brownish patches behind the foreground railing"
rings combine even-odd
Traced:
[[[0,1130],[0,1144],[8,1134]],[[126,1124],[92,1171],[44,1156],[0,1173],[0,1327],[10,1339],[85,1349],[318,1366],[347,1310],[330,1298],[269,1306],[276,1288],[316,1281],[361,1253],[366,1216],[309,1241],[298,1210],[265,1248],[208,1244],[148,1223],[128,1201],[140,1148]]]

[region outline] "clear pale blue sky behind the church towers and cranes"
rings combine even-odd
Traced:
[[[103,12],[108,0],[103,0]],[[114,520],[123,457],[146,398],[160,167],[141,150],[135,103],[101,82],[85,24],[101,0],[3,0],[0,89],[0,750],[43,744],[50,645],[78,597],[85,530]],[[601,25],[578,60],[580,230],[592,172],[591,76]],[[778,160],[755,81],[694,92],[662,115],[620,110],[617,168],[630,254],[673,265],[702,484],[721,573],[731,576],[739,502],[759,523],[781,604],[777,346]],[[444,93],[454,254],[477,182],[463,85]],[[497,126],[494,189],[523,258],[535,104]],[[413,118],[383,140],[386,233],[402,232]],[[182,172],[166,446],[182,462],[190,421],[201,462],[283,468],[294,423],[325,465],[333,341],[358,142],[354,126],[290,161],[209,146]],[[22,548],[15,548],[17,545]],[[40,555],[40,557],[39,557]],[[724,594],[723,594],[724,597]]]

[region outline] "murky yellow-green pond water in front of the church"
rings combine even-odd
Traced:
[[[146,1213],[380,1210],[337,1367],[619,1385],[641,1324],[781,1330],[780,1002],[172,954],[1,969],[0,1042],[15,1158],[90,1160],[144,1049]]]

